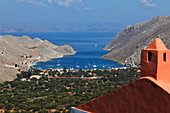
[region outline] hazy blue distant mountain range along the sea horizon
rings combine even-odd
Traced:
[[[119,23],[55,23],[49,25],[31,23],[27,25],[2,25],[0,33],[25,32],[117,32],[123,28]]]

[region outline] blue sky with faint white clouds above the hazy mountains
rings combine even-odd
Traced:
[[[170,13],[170,0],[0,0],[0,24],[135,24]]]

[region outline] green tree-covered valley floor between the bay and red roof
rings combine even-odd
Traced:
[[[97,79],[17,78],[0,84],[0,109],[5,112],[70,112],[70,108],[104,95],[139,78],[136,68],[119,70],[64,71],[60,76],[94,76]],[[40,72],[40,71],[39,71]],[[51,73],[56,73],[51,71]],[[89,74],[91,73],[91,74]],[[22,73],[27,75],[26,73]],[[18,77],[24,77],[24,75]],[[28,72],[28,74],[30,74]],[[36,73],[38,74],[38,73]]]

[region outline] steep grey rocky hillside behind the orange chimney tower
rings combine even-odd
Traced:
[[[170,16],[158,16],[148,22],[125,27],[104,48],[111,52],[103,58],[138,65],[141,49],[146,48],[154,38],[161,38],[170,49]]]

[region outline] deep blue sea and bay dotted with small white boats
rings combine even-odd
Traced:
[[[108,69],[124,67],[124,65],[102,59],[109,53],[103,48],[111,42],[117,32],[41,32],[41,33],[1,33],[1,35],[23,36],[48,40],[56,45],[70,45],[77,53],[63,58],[51,59],[46,62],[37,62],[34,68],[39,69]]]

